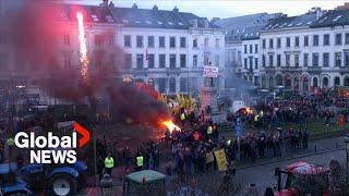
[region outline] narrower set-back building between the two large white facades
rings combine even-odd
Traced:
[[[258,86],[260,30],[270,20],[281,15],[281,13],[257,13],[222,20],[215,19],[216,25],[227,29],[225,37],[226,69],[231,69],[251,85]]]

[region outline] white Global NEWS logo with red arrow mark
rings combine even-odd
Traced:
[[[14,136],[14,145],[31,149],[31,163],[75,163],[76,148],[82,148],[89,142],[89,132],[77,122],[73,123],[73,127],[75,132],[63,136],[57,136],[52,132],[47,135],[19,132]],[[77,133],[82,136],[79,140]]]

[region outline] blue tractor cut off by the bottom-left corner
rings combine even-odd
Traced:
[[[27,184],[16,175],[14,162],[0,164],[0,195],[31,195]]]

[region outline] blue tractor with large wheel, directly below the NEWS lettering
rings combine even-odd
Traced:
[[[33,163],[21,169],[21,174],[34,192],[50,195],[75,195],[85,186],[87,167],[82,161],[73,164]]]

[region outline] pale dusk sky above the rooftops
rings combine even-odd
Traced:
[[[67,0],[83,4],[99,4],[101,0]],[[182,12],[192,12],[200,16],[232,17],[238,15],[282,12],[288,15],[302,14],[313,7],[321,7],[324,10],[334,9],[348,0],[113,0],[116,7],[132,7],[136,3],[140,9],[152,9],[157,4],[161,10],[172,10],[176,5]]]

